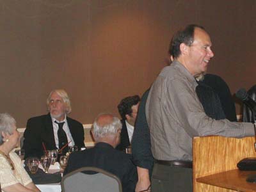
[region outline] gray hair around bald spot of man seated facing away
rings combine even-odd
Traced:
[[[93,122],[93,127],[92,127],[95,141],[99,140],[100,138],[104,138],[106,136],[114,136],[116,132],[118,132],[118,130],[122,129],[122,124],[119,118],[113,115],[111,115],[113,116],[112,122],[104,125],[99,125],[98,120],[99,120],[99,117],[102,115],[111,115],[111,114],[101,113],[99,116],[97,116],[97,118],[95,118],[95,121]]]

